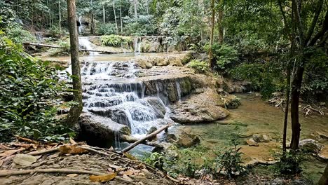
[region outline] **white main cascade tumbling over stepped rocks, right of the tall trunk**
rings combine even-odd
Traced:
[[[166,124],[165,104],[159,97],[144,97],[138,71],[134,62],[86,62],[81,69],[83,83],[89,84],[83,90],[83,109],[104,122],[110,118],[128,125],[135,137]]]

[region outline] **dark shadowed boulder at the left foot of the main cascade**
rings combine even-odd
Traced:
[[[78,124],[81,127],[78,139],[93,146],[110,146],[115,141],[115,135],[130,135],[128,126],[109,120],[102,123],[88,114],[81,114]]]

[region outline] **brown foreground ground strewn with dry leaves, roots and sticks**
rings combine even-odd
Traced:
[[[178,177],[164,172],[128,153],[88,146],[83,143],[39,144],[18,137],[0,144],[0,184],[271,184],[274,177],[257,170],[238,179]],[[22,142],[21,142],[22,141]],[[262,174],[262,175],[261,175]],[[285,181],[289,179],[278,179]]]

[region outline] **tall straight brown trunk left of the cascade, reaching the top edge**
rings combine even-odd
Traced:
[[[69,38],[71,43],[71,74],[73,75],[73,95],[74,102],[69,109],[66,123],[70,128],[78,123],[82,111],[82,85],[81,85],[81,72],[80,72],[80,61],[78,58],[78,29],[76,26],[76,5],[75,0],[67,0],[67,17],[69,25]]]

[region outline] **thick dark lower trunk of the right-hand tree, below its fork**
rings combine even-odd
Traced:
[[[304,68],[299,64],[296,67],[296,74],[292,81],[292,95],[290,105],[290,116],[292,118],[292,142],[291,149],[299,149],[299,138],[301,136],[301,124],[299,123],[299,96],[301,95],[301,85]]]

